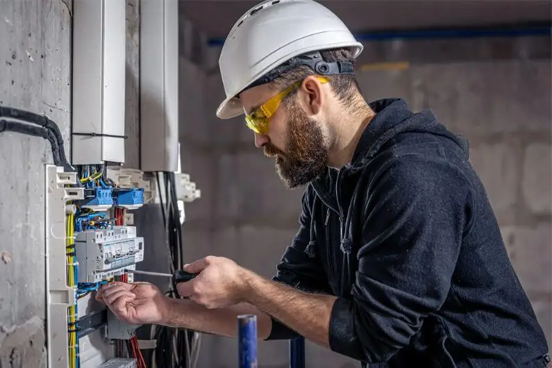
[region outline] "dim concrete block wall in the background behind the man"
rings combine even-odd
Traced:
[[[361,64],[410,63],[392,69],[359,65],[358,79],[367,99],[403,97],[412,110],[432,108],[441,122],[469,139],[471,162],[552,342],[549,41],[367,44],[369,53]],[[183,171],[192,174],[203,195],[187,206],[187,258],[227,256],[270,277],[298,228],[302,190],[283,188],[241,118],[216,119],[215,109],[224,98],[216,53],[201,68],[183,58],[181,84]],[[206,335],[202,346],[200,367],[235,367],[236,340]],[[260,367],[287,367],[288,362],[287,342],[260,342]],[[308,343],[307,366],[358,364]]]

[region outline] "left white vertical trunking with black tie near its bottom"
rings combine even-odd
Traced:
[[[125,0],[74,0],[74,165],[124,162],[125,42]]]

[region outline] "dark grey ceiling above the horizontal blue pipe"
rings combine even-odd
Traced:
[[[320,0],[354,33],[485,27],[551,21],[551,0]],[[260,1],[180,0],[181,15],[208,34],[226,37]]]

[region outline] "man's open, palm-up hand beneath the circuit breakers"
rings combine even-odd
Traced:
[[[127,324],[160,324],[169,308],[167,298],[150,283],[109,283],[96,299]]]

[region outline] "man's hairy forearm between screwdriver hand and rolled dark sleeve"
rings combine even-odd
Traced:
[[[249,271],[247,278],[246,301],[306,339],[330,347],[330,317],[335,296],[307,294]]]

